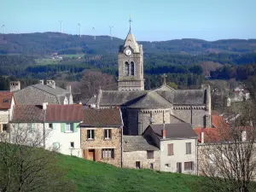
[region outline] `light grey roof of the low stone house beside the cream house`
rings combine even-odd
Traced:
[[[125,152],[159,150],[152,140],[143,136],[124,136],[123,144]]]

